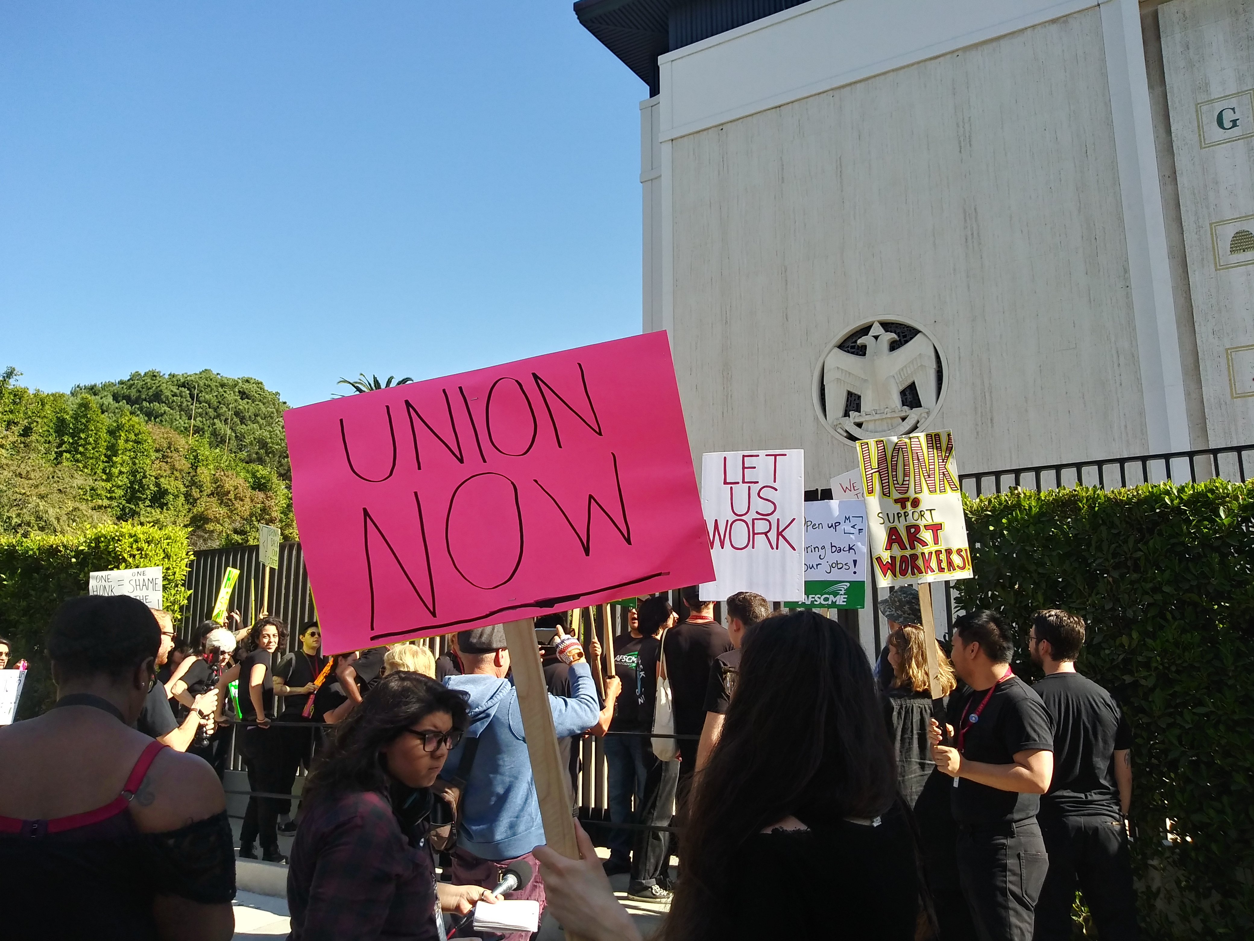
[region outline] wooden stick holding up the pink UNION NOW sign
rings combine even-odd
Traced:
[[[523,716],[527,735],[527,754],[532,759],[535,778],[535,797],[544,821],[544,841],[568,859],[579,858],[579,846],[574,841],[574,818],[571,817],[571,772],[562,762],[553,729],[553,713],[548,705],[548,686],[544,667],[535,652],[535,621],[525,619],[505,625],[505,642],[509,645],[509,662],[514,670],[518,689],[518,710]],[[569,931],[567,941],[579,941]]]

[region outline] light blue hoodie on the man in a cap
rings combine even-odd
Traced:
[[[444,685],[469,696],[466,738],[479,739],[461,799],[458,846],[480,859],[513,859],[532,852],[544,842],[544,824],[513,681],[468,674],[445,676]],[[571,698],[549,696],[549,708],[559,739],[597,724],[601,703],[587,664],[571,667]],[[463,739],[453,749],[444,764],[449,772],[456,773],[464,748]]]

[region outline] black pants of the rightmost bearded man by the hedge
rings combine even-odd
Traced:
[[[1036,940],[1068,941],[1076,888],[1085,893],[1101,941],[1135,941],[1136,895],[1122,821],[1061,817],[1041,821],[1050,875],[1036,906]]]

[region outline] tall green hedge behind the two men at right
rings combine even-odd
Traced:
[[[967,519],[962,606],[1004,612],[1021,660],[1033,610],[1083,616],[1078,669],[1131,721],[1147,936],[1254,936],[1251,484],[1017,491],[968,501]]]

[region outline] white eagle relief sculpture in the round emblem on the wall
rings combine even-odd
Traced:
[[[835,344],[824,358],[823,417],[838,437],[856,440],[912,434],[935,412],[937,348],[919,331],[890,349],[899,339],[877,321],[858,339],[856,345],[867,350],[864,356]]]

